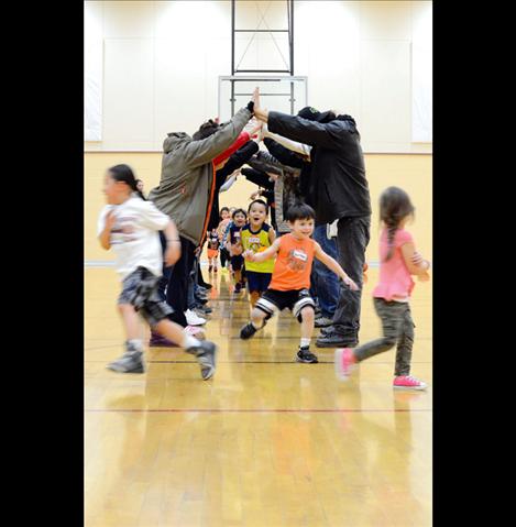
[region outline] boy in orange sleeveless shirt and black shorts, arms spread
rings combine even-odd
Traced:
[[[250,339],[275,311],[288,308],[301,323],[301,340],[296,360],[305,363],[318,362],[310,352],[314,332],[315,301],[310,297],[310,272],[314,256],[336,273],[352,290],[356,284],[344,273],[342,267],[329,256],[310,235],[314,232],[316,213],[305,204],[288,208],[287,221],[292,232],[276,238],[265,251],[254,254],[248,250],[244,257],[250,262],[263,262],[276,256],[268,289],[256,301],[251,314],[251,321],[240,330],[241,339]]]

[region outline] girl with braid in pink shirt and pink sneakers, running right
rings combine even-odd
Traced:
[[[382,320],[383,338],[355,349],[336,350],[336,373],[349,377],[354,365],[396,345],[393,387],[425,389],[426,383],[409,375],[414,345],[414,322],[409,298],[414,289],[410,275],[429,279],[430,262],[416,252],[414,239],[405,224],[414,216],[414,206],[405,190],[388,187],[380,197],[380,218],[384,224],[380,237],[380,282],[373,290],[374,308]]]

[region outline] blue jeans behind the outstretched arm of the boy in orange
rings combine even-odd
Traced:
[[[338,260],[337,242],[334,238],[328,240],[326,223],[315,228],[314,240],[329,256]],[[314,259],[311,277],[321,315],[326,318],[333,318],[339,301],[339,277],[317,259]]]

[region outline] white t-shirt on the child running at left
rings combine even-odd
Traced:
[[[131,197],[121,205],[107,205],[101,210],[97,235],[103,231],[110,210],[116,215],[110,243],[117,254],[116,267],[121,279],[140,266],[161,276],[163,253],[157,231],[167,226],[168,216],[160,212],[151,201]]]

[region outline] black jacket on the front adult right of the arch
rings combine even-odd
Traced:
[[[371,215],[364,156],[354,121],[339,116],[320,123],[271,111],[268,130],[314,146],[308,193],[317,224]]]

